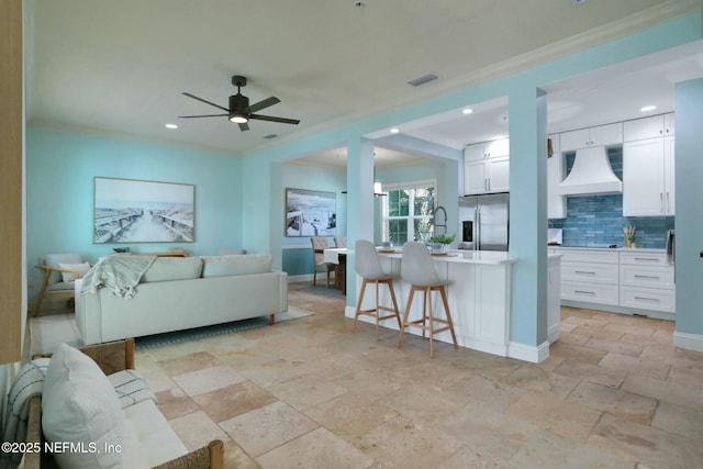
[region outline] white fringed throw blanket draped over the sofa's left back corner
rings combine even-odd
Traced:
[[[80,294],[97,293],[107,288],[118,297],[132,298],[154,260],[156,256],[105,256],[83,277]]]

